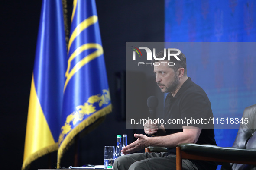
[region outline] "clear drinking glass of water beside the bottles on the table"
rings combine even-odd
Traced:
[[[114,164],[114,154],[115,154],[115,147],[114,146],[105,146],[104,148],[104,168],[111,168]]]

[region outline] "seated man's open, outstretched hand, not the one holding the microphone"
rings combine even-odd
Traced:
[[[123,154],[130,154],[135,151],[139,151],[143,148],[146,148],[150,145],[149,137],[147,137],[146,135],[134,134],[134,137],[137,138],[137,140],[127,145],[126,147],[124,147],[123,150],[121,151],[123,152]]]

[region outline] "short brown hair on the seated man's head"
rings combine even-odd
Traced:
[[[165,60],[163,61],[167,61],[168,57],[167,57],[167,49],[166,49],[166,56],[165,56]],[[178,51],[170,51],[170,53],[175,54],[178,53]],[[160,51],[159,53],[156,54],[156,58],[163,58],[164,57],[164,50]],[[168,62],[173,62],[175,63],[174,66],[169,66],[170,68],[172,68],[175,72],[179,69],[179,68],[184,68],[184,74],[187,75],[187,60],[186,57],[183,53],[177,55],[177,57],[180,59],[177,60],[174,56],[170,56],[170,60]],[[159,62],[157,60],[155,60],[154,58],[152,59],[152,62]]]

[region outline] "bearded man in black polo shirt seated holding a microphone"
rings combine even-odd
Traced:
[[[156,54],[157,58],[163,58],[163,56],[164,51]],[[213,113],[207,94],[187,76],[185,55],[181,53],[178,58],[181,61],[177,61],[173,57],[170,58],[170,61],[164,60],[158,66],[154,65],[157,85],[163,93],[169,93],[165,99],[165,121],[175,120],[176,123],[172,121],[172,123],[161,126],[146,123],[144,125],[145,133],[156,134],[156,137],[134,134],[137,140],[122,150],[124,154],[128,154],[148,146],[161,146],[167,147],[168,151],[121,156],[114,162],[113,170],[175,170],[175,147],[177,145],[181,143],[216,145],[213,126],[210,129],[202,121],[200,123],[194,121],[189,124],[187,124],[188,121],[185,121],[210,120],[213,118]],[[168,62],[173,62],[175,65],[168,66]],[[178,123],[178,120],[184,120],[184,122]],[[185,170],[214,170],[217,168],[217,164],[213,162],[194,160],[183,160],[182,166]]]

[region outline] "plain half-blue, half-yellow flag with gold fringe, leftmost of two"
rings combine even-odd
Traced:
[[[43,0],[22,169],[58,150],[66,60],[62,0]]]

